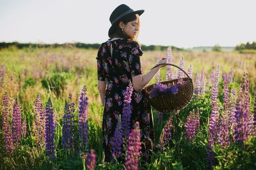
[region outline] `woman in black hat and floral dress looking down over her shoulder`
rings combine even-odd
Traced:
[[[139,15],[144,10],[133,11],[125,4],[119,5],[110,15],[110,39],[101,44],[97,55],[98,89],[103,112],[103,151],[105,161],[112,161],[112,141],[117,126],[118,115],[122,115],[123,93],[129,82],[134,88],[131,97],[132,113],[130,128],[138,121],[141,129],[141,152],[147,161],[150,150],[154,150],[153,116],[150,104],[145,96],[144,87],[155,76],[158,66],[147,74],[141,73],[143,54],[137,42],[139,34]],[[163,58],[160,63],[166,63]]]

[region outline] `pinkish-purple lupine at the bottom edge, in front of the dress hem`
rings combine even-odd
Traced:
[[[139,164],[139,150],[141,149],[140,143],[140,129],[139,123],[135,122],[134,129],[130,132],[128,149],[125,161],[126,170],[138,170]]]

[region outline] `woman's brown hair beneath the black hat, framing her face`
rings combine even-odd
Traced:
[[[124,24],[127,24],[128,22],[134,21],[136,19],[138,19],[137,26],[139,27],[139,15],[135,14],[135,13],[132,13],[130,15],[126,15],[124,18],[121,18],[121,20],[119,22],[122,21],[122,22],[124,22]],[[117,25],[115,26],[115,30],[114,30],[113,34],[117,35],[120,38],[125,38],[125,39],[136,41],[139,44],[139,42],[137,40],[138,35],[139,35],[139,30],[137,31],[137,33],[134,36],[134,38],[130,38],[126,34],[124,34],[124,32],[122,31],[122,29],[119,26],[119,22],[117,22]],[[112,38],[110,38],[109,40],[111,40],[111,39]],[[141,44],[139,44],[139,46],[141,46]]]

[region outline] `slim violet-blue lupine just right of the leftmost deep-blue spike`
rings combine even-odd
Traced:
[[[62,148],[70,149],[70,109],[65,99],[63,123],[62,123]]]

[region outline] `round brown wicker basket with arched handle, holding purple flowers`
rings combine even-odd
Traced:
[[[153,68],[155,68],[159,65],[175,66],[175,67],[179,68],[181,71],[183,71],[187,77],[182,78],[185,81],[185,84],[184,84],[184,86],[179,88],[178,93],[175,95],[173,95],[171,92],[168,92],[163,95],[159,95],[159,96],[150,98],[149,93],[150,93],[151,89],[153,88],[153,84],[145,87],[145,92],[146,92],[146,96],[148,98],[149,103],[151,104],[151,106],[153,108],[155,108],[159,112],[172,112],[173,110],[180,110],[180,109],[186,107],[191,102],[193,94],[194,94],[193,80],[189,77],[189,75],[182,68],[180,68],[174,64],[168,64],[168,63],[158,64],[158,65],[154,66]],[[173,80],[160,82],[160,83],[166,85],[167,87],[171,87],[173,85],[176,85],[177,81],[178,81],[178,79],[173,79]]]

